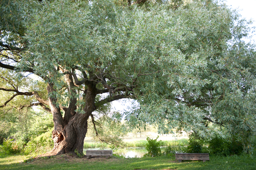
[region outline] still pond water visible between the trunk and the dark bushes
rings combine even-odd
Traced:
[[[163,151],[165,147],[160,147]],[[86,150],[111,150],[110,148],[84,148],[83,153],[86,153]],[[118,149],[114,152],[116,155],[124,156],[126,158],[141,158],[145,153],[147,153],[147,150],[145,147],[125,147],[123,149]]]

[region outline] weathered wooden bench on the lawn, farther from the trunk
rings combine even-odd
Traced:
[[[182,160],[210,161],[209,153],[175,153],[175,159],[178,160],[178,162]]]

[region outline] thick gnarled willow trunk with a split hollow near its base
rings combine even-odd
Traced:
[[[53,95],[55,90],[53,85],[47,86],[49,103],[53,115],[54,130],[52,139],[54,141],[53,150],[48,153],[58,155],[63,153],[78,152],[83,154],[83,141],[87,133],[87,120],[95,107],[95,86],[88,88],[84,94],[85,105],[81,109],[83,113],[76,113],[76,100],[70,99],[69,108],[64,109],[65,116],[60,112],[60,106]],[[75,105],[75,107],[74,107]]]

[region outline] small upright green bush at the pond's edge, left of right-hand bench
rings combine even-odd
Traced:
[[[159,156],[161,155],[161,140],[160,141],[156,141],[158,139],[159,136],[157,136],[156,139],[150,139],[149,137],[147,137],[147,144],[146,144],[146,150],[147,150],[147,154],[145,154],[144,156],[150,156],[150,157],[154,157],[154,156]]]

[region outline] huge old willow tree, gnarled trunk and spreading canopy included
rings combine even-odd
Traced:
[[[52,113],[53,154],[82,153],[92,113],[124,98],[139,103],[124,115],[130,127],[206,136],[210,123],[245,146],[255,135],[255,48],[247,21],[223,4],[1,0],[0,9],[0,107],[26,96],[33,102],[17,109]],[[47,95],[17,88],[28,74]]]

